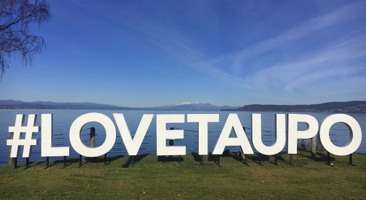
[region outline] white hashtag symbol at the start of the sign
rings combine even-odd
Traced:
[[[9,126],[9,133],[14,133],[13,139],[6,140],[6,145],[11,146],[10,157],[18,157],[19,146],[23,146],[23,158],[28,158],[31,154],[32,145],[37,145],[37,139],[32,139],[33,133],[39,132],[36,125],[37,115],[29,115],[27,126],[24,126],[24,115],[17,115],[15,126]],[[24,139],[21,139],[25,133]]]

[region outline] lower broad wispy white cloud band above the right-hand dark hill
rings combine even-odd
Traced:
[[[347,76],[366,72],[366,35],[315,52],[302,60],[290,61],[256,72],[249,78],[257,88],[281,84],[292,92],[297,87],[327,77]],[[354,62],[357,64],[354,64]],[[360,63],[361,62],[361,63]]]

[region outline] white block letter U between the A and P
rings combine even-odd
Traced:
[[[251,114],[251,141],[255,150],[265,155],[274,155],[281,152],[286,143],[286,115],[275,115],[275,140],[276,142],[270,146],[266,146],[262,142],[262,122],[261,114]]]

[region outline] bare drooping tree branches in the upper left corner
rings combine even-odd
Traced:
[[[11,56],[19,55],[24,65],[32,64],[34,54],[46,47],[43,37],[29,33],[29,24],[40,26],[50,18],[44,0],[0,0],[0,81]]]

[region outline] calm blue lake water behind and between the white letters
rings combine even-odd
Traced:
[[[128,128],[132,135],[135,134],[138,124],[140,123],[141,117],[143,114],[154,114],[154,118],[146,136],[142,142],[139,154],[142,153],[156,153],[156,115],[158,114],[219,114],[220,122],[217,123],[209,123],[209,152],[212,152],[215,143],[221,133],[221,130],[225,124],[226,118],[230,113],[236,113],[241,121],[242,126],[247,127],[246,130],[247,137],[250,141],[251,132],[250,132],[250,120],[252,113],[260,113],[262,114],[262,140],[266,145],[270,145],[275,142],[274,138],[274,115],[281,114],[279,112],[227,112],[227,111],[214,111],[214,112],[197,112],[197,111],[109,111],[109,110],[23,110],[23,109],[11,109],[11,110],[0,110],[0,165],[5,165],[8,163],[9,156],[9,146],[6,145],[6,139],[9,138],[8,129],[9,126],[14,126],[15,119],[17,114],[24,114],[25,124],[27,122],[27,115],[29,114],[37,114],[37,122],[36,125],[41,125],[41,114],[53,114],[53,146],[55,147],[65,147],[70,146],[69,140],[69,130],[73,121],[86,113],[102,113],[112,119],[116,126],[116,121],[114,120],[114,113],[122,113],[127,122]],[[283,113],[284,114],[284,113]],[[331,113],[299,113],[299,114],[307,114],[315,117],[320,124],[322,119],[331,115]],[[362,129],[362,142],[358,150],[356,152],[366,152],[366,115],[365,114],[348,114],[354,117],[361,126]],[[185,116],[187,118],[187,116]],[[187,120],[187,119],[186,119]],[[96,122],[87,123],[82,130],[82,141],[86,146],[90,145],[90,127],[96,128],[96,147],[100,146],[105,140],[105,130],[103,126]],[[174,146],[186,146],[186,151],[188,152],[197,152],[198,150],[198,133],[197,133],[197,123],[185,122],[185,123],[169,123],[167,124],[167,129],[171,127],[177,129],[184,130],[184,138],[183,139],[175,139]],[[305,123],[299,123],[299,129],[303,129],[306,127]],[[126,148],[123,145],[122,138],[120,137],[118,128],[116,126],[117,138],[116,143],[112,150],[108,152],[108,155],[127,155]],[[24,134],[23,134],[24,136]],[[231,133],[231,136],[234,136],[234,133]],[[40,157],[40,132],[35,133],[35,139],[39,140],[39,145],[33,146],[32,154],[30,157],[31,161],[44,161],[45,158]],[[331,127],[330,130],[330,139],[333,141],[336,146],[344,146],[347,144],[349,139],[349,131],[347,126],[342,123],[336,123]],[[250,141],[251,143],[251,141]],[[167,141],[168,145],[168,141]],[[251,144],[252,145],[252,144]],[[239,151],[239,147],[226,147],[231,151]],[[253,148],[254,150],[254,148]],[[286,151],[286,146],[283,149]],[[256,152],[254,150],[254,152]],[[20,148],[19,152],[19,162],[25,161],[25,158],[21,158],[22,148]],[[70,148],[70,158],[78,158],[77,152],[71,147]],[[59,159],[62,157],[52,157],[51,160]]]

